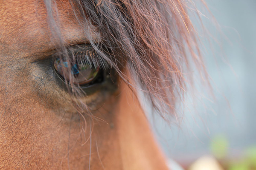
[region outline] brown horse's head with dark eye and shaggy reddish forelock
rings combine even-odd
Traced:
[[[142,102],[175,119],[204,74],[189,4],[1,0],[0,169],[168,170]]]

